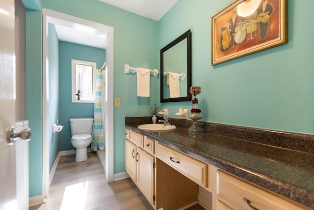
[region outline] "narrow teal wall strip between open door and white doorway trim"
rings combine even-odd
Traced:
[[[29,197],[42,194],[42,27],[41,12],[26,9],[26,119],[29,141]]]

